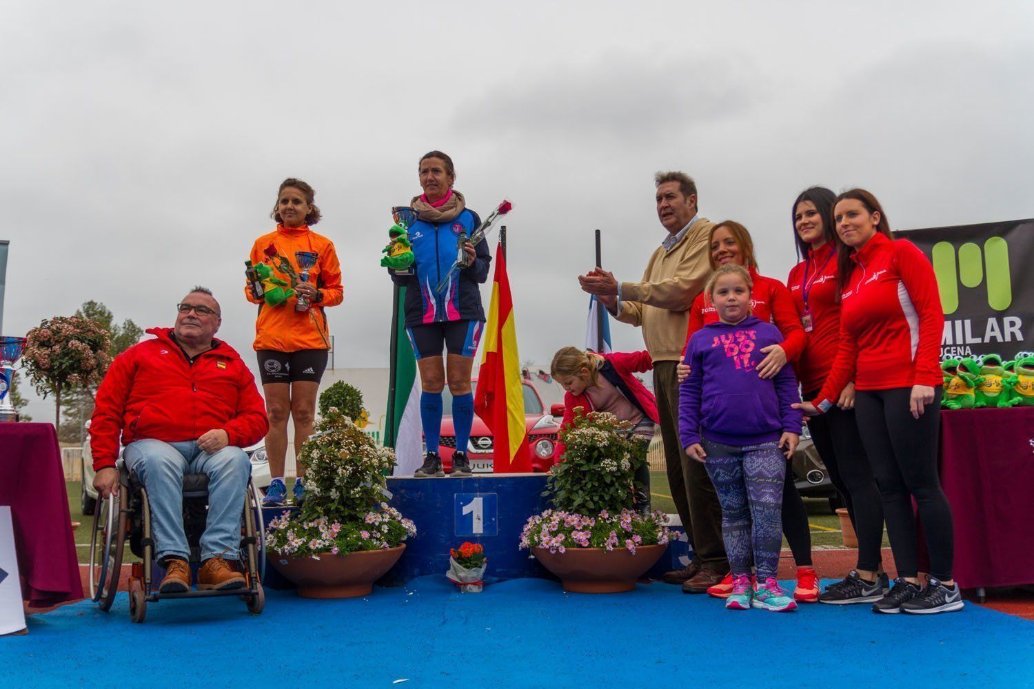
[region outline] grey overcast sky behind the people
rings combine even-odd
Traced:
[[[1032,35],[1029,2],[8,0],[3,334],[89,299],[172,325],[201,283],[254,368],[243,261],[299,177],[341,259],[336,365],[387,366],[378,252],[440,149],[482,216],[513,199],[520,355],[548,362],[584,340],[595,228],[604,265],[641,278],[660,169],[692,175],[701,214],[746,224],[780,279],[813,184],[869,188],[894,228],[1034,216]]]

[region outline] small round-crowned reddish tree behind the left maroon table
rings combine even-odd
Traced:
[[[22,361],[36,392],[54,394],[54,426],[60,429],[61,396],[100,383],[112,363],[112,340],[99,324],[79,316],[44,319],[27,339]]]

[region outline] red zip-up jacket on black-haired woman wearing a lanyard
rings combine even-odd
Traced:
[[[786,284],[803,319],[812,316],[812,331],[805,332],[808,344],[794,367],[804,395],[818,393],[837,358],[840,347],[840,302],[837,300],[837,250],[826,242],[808,258],[790,269]],[[805,299],[807,304],[805,304]]]

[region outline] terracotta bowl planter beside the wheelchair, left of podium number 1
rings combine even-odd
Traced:
[[[348,555],[324,553],[318,560],[270,551],[268,557],[276,570],[298,587],[298,595],[303,598],[355,598],[369,595],[373,583],[388,573],[404,550],[402,544]]]

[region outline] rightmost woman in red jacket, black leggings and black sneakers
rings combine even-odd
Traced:
[[[951,506],[937,473],[939,366],[944,312],[930,260],[894,240],[873,194],[837,197],[841,342],[819,396],[800,406],[827,411],[849,380],[865,453],[883,497],[899,578],[873,603],[877,613],[945,613],[963,607],[951,578]],[[930,581],[917,577],[918,542],[912,500],[930,552]]]

